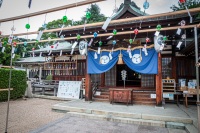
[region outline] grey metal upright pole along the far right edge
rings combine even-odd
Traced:
[[[198,40],[197,40],[197,27],[194,27],[195,37],[195,60],[198,63]],[[198,115],[198,132],[200,133],[200,106],[199,106],[199,67],[196,65],[196,79],[197,79],[197,115]]]

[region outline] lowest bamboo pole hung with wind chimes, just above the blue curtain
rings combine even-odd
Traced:
[[[193,28],[196,27],[197,25],[185,25],[183,28],[187,29],[187,28]],[[166,28],[162,28],[160,31],[167,31],[167,30],[175,30],[180,28],[180,26],[174,26],[174,27],[166,27]],[[139,30],[139,34],[140,33],[145,33],[145,32],[155,32],[156,28],[154,29],[144,29],[144,30]],[[125,34],[134,34],[133,30],[131,31],[124,31],[124,32],[118,32],[116,36],[119,35],[125,35]],[[113,36],[113,33],[104,33],[104,34],[98,34],[98,37],[104,37],[104,36]],[[81,39],[87,39],[87,38],[93,38],[94,35],[85,35],[85,36],[81,36]],[[55,39],[51,39],[51,41],[61,41],[61,40],[76,40],[76,37],[66,37],[66,38],[55,38]],[[49,40],[41,40],[39,42],[48,42]],[[27,43],[36,43],[36,41],[30,41]],[[24,42],[19,42],[17,44],[24,44]]]

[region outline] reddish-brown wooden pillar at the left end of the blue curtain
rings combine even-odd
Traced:
[[[87,57],[88,58],[88,57]],[[92,86],[91,76],[87,74],[87,59],[86,59],[86,74],[85,74],[85,101],[92,101]]]

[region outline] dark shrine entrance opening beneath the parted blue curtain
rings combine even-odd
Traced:
[[[117,65],[116,85],[124,86],[124,80],[122,80],[121,71],[127,72],[125,86],[126,87],[141,87],[141,74],[131,70],[126,64]]]

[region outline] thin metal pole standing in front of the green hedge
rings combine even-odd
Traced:
[[[10,103],[10,85],[11,85],[11,74],[12,74],[12,50],[13,45],[11,43],[11,52],[10,52],[10,73],[9,73],[9,84],[8,84],[8,104],[7,104],[7,115],[6,115],[6,129],[5,133],[7,133],[8,130],[8,115],[9,115],[9,103]]]

